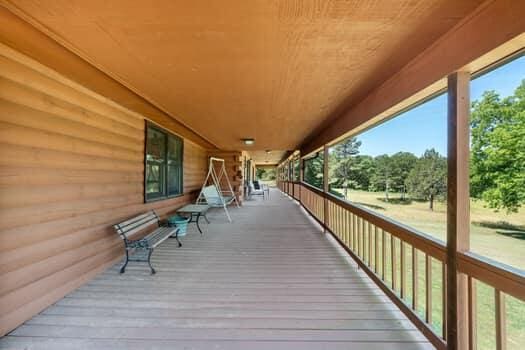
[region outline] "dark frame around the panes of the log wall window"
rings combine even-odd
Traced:
[[[162,180],[161,183],[161,193],[160,194],[152,194],[148,193],[148,131],[152,129],[155,132],[161,133],[164,135],[164,159],[163,159],[163,169],[162,169]],[[180,172],[180,179],[179,179],[179,192],[174,194],[169,194],[169,178],[168,178],[168,170],[169,170],[169,162],[172,161],[169,158],[168,155],[168,145],[171,140],[176,140],[180,144],[180,166],[178,168]],[[149,121],[146,121],[145,128],[144,128],[144,203],[150,203],[150,202],[156,202],[171,198],[176,198],[184,195],[184,138],[175,135],[174,133],[163,129],[162,127],[151,123]]]

